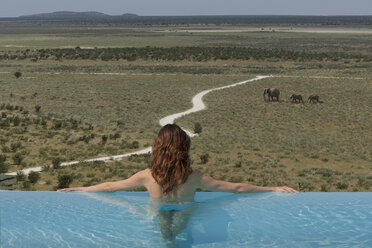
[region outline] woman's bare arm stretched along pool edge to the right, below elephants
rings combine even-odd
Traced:
[[[199,181],[199,187],[209,191],[222,191],[232,193],[256,193],[256,192],[287,192],[296,193],[295,189],[287,186],[283,187],[262,187],[255,186],[247,183],[230,183],[220,180],[215,180],[212,177],[203,174],[201,172],[197,175]]]

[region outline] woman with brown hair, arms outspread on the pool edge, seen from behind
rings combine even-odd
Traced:
[[[286,186],[261,187],[215,180],[191,168],[189,150],[190,137],[179,126],[168,124],[161,128],[153,142],[151,169],[140,171],[121,181],[59,191],[113,192],[144,186],[151,198],[161,198],[166,201],[177,199],[193,201],[197,189],[233,193],[297,192]]]

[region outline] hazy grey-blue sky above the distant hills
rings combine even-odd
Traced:
[[[110,15],[372,15],[372,0],[0,0],[0,17],[62,10]]]

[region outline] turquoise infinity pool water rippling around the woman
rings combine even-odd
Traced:
[[[0,192],[1,247],[372,247],[372,193]]]

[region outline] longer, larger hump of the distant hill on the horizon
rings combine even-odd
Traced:
[[[74,12],[74,11],[57,11],[52,13],[42,13],[34,15],[20,16],[21,19],[86,19],[86,18],[105,18],[110,17],[101,12],[87,11],[87,12]]]

